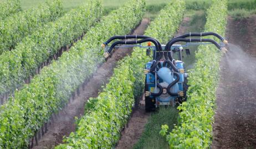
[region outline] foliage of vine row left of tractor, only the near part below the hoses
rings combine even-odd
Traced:
[[[64,139],[65,144],[55,148],[111,148],[115,145],[134,104],[133,70],[141,67],[141,63],[134,63],[144,61],[145,57],[134,53],[119,62],[104,91],[98,98],[89,100],[96,100],[94,108],[86,110],[77,130]]]

